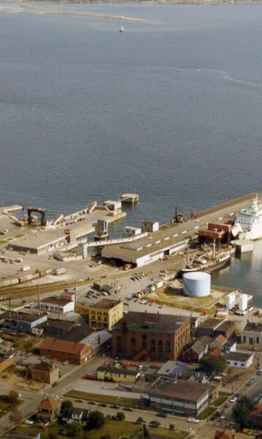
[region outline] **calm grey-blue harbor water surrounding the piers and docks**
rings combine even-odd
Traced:
[[[1,204],[54,216],[136,189],[122,228],[261,190],[262,5],[35,5],[149,22],[0,3]],[[214,282],[262,305],[261,246]]]

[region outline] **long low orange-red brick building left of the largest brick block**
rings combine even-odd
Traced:
[[[92,347],[84,343],[67,342],[57,338],[47,337],[39,347],[40,355],[68,361],[71,364],[83,364],[93,354]]]

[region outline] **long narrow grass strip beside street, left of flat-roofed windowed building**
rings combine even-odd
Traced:
[[[116,399],[115,396],[97,395],[94,393],[79,392],[75,390],[68,392],[65,396],[68,398],[85,399],[89,401],[105,402],[106,404],[118,404],[118,405],[129,406],[129,407],[141,408],[143,406],[142,401],[140,401],[139,399],[124,398],[124,397],[120,397]]]

